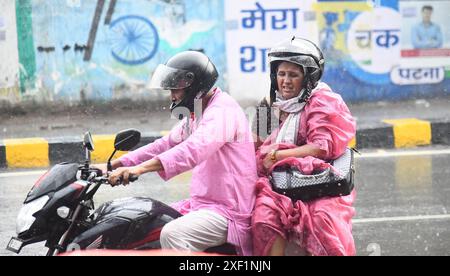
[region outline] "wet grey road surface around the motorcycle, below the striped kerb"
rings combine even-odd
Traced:
[[[353,234],[357,254],[450,255],[450,150],[442,147],[389,152],[363,151],[356,159],[358,191]],[[22,201],[36,172],[0,171],[0,255],[15,233]],[[129,187],[103,187],[97,206],[128,196],[174,202],[188,194],[190,175],[164,183],[156,174]],[[21,255],[43,254],[42,244]]]

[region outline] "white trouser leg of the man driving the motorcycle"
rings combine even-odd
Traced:
[[[209,210],[188,213],[167,223],[161,231],[164,249],[205,251],[227,242],[228,220]]]

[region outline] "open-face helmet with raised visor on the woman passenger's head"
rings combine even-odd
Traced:
[[[295,36],[270,49],[271,102],[275,101],[275,91],[278,89],[277,68],[283,61],[300,65],[303,68],[305,73],[303,88],[305,88],[305,91],[301,96],[301,101],[307,101],[311,95],[311,91],[319,83],[325,69],[325,60],[322,51],[313,42]]]

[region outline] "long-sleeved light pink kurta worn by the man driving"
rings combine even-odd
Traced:
[[[182,214],[199,209],[226,217],[228,242],[238,253],[252,255],[251,214],[257,180],[255,149],[247,118],[228,94],[216,89],[201,119],[186,121],[167,136],[120,158],[135,166],[152,158],[161,161],[159,174],[168,180],[193,170],[190,199],[173,205]],[[190,134],[190,136],[189,136]]]

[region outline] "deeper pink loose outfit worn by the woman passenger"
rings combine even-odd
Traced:
[[[315,89],[309,103],[301,113],[298,133],[299,145],[312,144],[326,152],[326,159],[342,155],[355,136],[356,125],[342,98],[325,83]],[[295,242],[315,256],[354,255],[351,219],[355,214],[352,204],[355,191],[343,197],[325,197],[302,202],[272,191],[267,175],[282,164],[290,164],[304,174],[330,165],[308,156],[288,158],[269,170],[264,169],[264,157],[271,149],[294,148],[296,145],[274,144],[278,131],[274,131],[257,152],[257,199],[252,218],[255,255],[268,255],[277,235]]]

